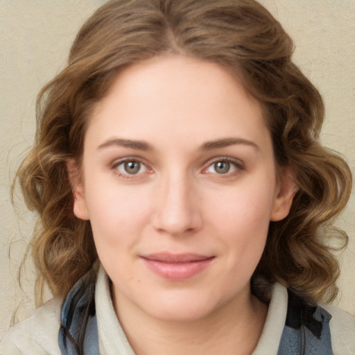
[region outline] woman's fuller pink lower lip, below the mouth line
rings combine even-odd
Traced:
[[[185,280],[193,277],[209,266],[214,258],[189,261],[187,263],[164,263],[162,261],[142,258],[146,266],[155,274],[173,281]]]

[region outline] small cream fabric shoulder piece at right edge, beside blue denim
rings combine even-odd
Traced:
[[[334,354],[355,354],[355,317],[330,304],[322,304],[330,315],[331,346]]]

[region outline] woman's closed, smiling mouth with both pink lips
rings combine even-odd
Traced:
[[[201,254],[149,254],[141,257],[150,271],[164,279],[189,279],[205,270],[215,257]]]

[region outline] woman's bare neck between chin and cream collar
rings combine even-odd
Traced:
[[[267,314],[267,306],[250,292],[202,319],[184,322],[150,317],[125,300],[119,304],[116,313],[137,355],[249,355],[257,346]]]

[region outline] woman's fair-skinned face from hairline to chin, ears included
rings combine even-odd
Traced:
[[[217,64],[158,57],[119,73],[92,114],[74,213],[89,219],[114,304],[165,320],[245,300],[275,173],[261,107]]]

